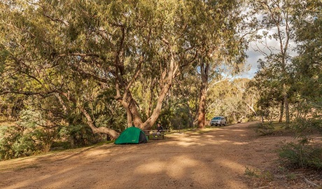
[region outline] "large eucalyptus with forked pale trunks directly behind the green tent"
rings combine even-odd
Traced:
[[[90,27],[94,27],[100,43],[108,43],[111,48],[104,48],[102,52],[107,57],[98,58],[102,64],[109,65],[106,69],[91,64],[101,70],[104,77],[93,75],[81,67],[78,71],[81,69],[86,75],[104,79],[104,83],[114,83],[114,98],[126,110],[129,125],[151,127],[160,115],[172,80],[179,75],[179,69],[193,61],[197,45],[195,32],[200,28],[193,16],[196,6],[202,4],[198,1],[102,1],[92,6],[99,8],[94,10],[94,14],[85,10],[85,17],[83,13],[79,15],[86,20],[97,20],[91,22]],[[104,10],[108,10],[108,14],[99,15]],[[111,39],[115,41],[109,43]],[[154,103],[151,100],[148,103],[153,105],[153,111],[148,111],[147,114],[151,115],[145,120],[133,94],[139,82],[143,86],[148,83],[150,99],[154,100]]]

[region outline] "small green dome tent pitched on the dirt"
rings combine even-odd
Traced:
[[[124,130],[114,144],[141,144],[147,143],[146,134],[137,127],[129,127]]]

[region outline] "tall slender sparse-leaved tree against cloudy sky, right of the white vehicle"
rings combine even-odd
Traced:
[[[265,61],[268,64],[274,64],[274,74],[279,75],[279,85],[282,89],[283,106],[285,107],[286,123],[290,122],[289,100],[290,85],[292,78],[290,76],[290,59],[292,58],[292,49],[290,43],[294,39],[293,20],[297,4],[300,1],[278,0],[278,1],[251,1],[251,7],[258,15],[261,15],[260,28],[262,34],[256,35],[256,38],[262,39],[257,46],[257,50],[265,55]],[[276,41],[278,47],[270,45],[269,40]]]

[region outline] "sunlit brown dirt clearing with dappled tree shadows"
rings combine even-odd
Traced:
[[[278,168],[274,149],[293,137],[258,137],[252,124],[216,127],[202,134],[168,134],[148,144],[106,144],[3,161],[0,188],[313,188],[310,182],[322,184],[319,174],[301,170],[290,174]]]

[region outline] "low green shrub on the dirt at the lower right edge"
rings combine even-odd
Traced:
[[[322,169],[321,146],[286,144],[279,149],[281,164],[291,168]]]

